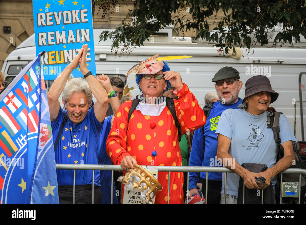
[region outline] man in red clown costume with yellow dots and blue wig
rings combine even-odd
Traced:
[[[148,58],[129,70],[128,75],[136,70],[136,83],[143,95],[129,120],[132,101],[119,107],[106,141],[106,152],[112,162],[124,169],[133,168],[132,163],[182,166],[177,126],[184,134],[206,122],[203,110],[187,84],[182,82],[180,73],[170,71],[167,63],[163,62],[189,56],[158,56]],[[176,87],[174,94],[179,97],[172,106],[177,126],[163,96],[171,85]],[[126,86],[125,92],[129,90]],[[168,172],[158,172],[158,181],[163,189],[156,194],[155,204],[167,204]],[[170,204],[183,203],[183,182],[182,172],[170,172]]]

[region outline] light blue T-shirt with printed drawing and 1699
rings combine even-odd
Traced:
[[[216,134],[222,134],[231,140],[229,154],[240,165],[243,163],[266,164],[268,168],[276,164],[278,154],[277,144],[271,128],[267,128],[266,111],[260,115],[253,115],[244,109],[227,109],[219,120]],[[285,141],[296,141],[291,126],[284,115],[280,115],[281,144]],[[229,162],[231,163],[231,162]],[[232,166],[232,165],[231,165]],[[222,174],[222,191],[224,193],[224,176]],[[226,194],[238,195],[240,176],[236,173],[227,173]],[[273,188],[277,176],[272,179]]]

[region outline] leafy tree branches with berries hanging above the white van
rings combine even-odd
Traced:
[[[117,0],[96,0],[96,4],[103,10],[110,5],[120,6]],[[99,38],[100,41],[112,39],[113,48],[119,49],[124,45],[120,50],[124,54],[135,46],[143,45],[162,27],[174,24],[178,36],[185,36],[185,32],[189,32],[194,34],[195,39],[214,41],[228,52],[230,48],[240,45],[248,49],[256,43],[266,45],[267,31],[282,24],[283,28],[274,41],[292,43],[293,37],[299,41],[300,34],[306,38],[303,21],[306,10],[300,4],[283,0],[275,3],[268,0],[136,0],[132,7],[128,6],[129,11],[122,26],[114,32],[102,32]],[[218,17],[215,17],[217,12]],[[219,17],[220,12],[224,14],[222,17]],[[214,24],[207,21],[214,21]]]

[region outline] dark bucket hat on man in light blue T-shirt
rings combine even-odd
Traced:
[[[245,96],[242,102],[246,99],[246,97],[254,95],[258,92],[271,92],[271,102],[273,103],[278,98],[278,93],[274,92],[271,88],[271,83],[266,76],[257,75],[249,78],[245,82]]]

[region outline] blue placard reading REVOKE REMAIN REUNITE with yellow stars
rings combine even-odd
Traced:
[[[43,55],[45,80],[54,80],[88,44],[87,68],[95,76],[95,49],[90,0],[33,0],[36,54]],[[83,77],[79,68],[69,78]]]

